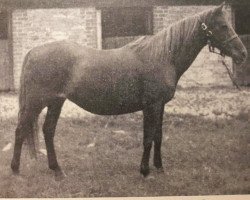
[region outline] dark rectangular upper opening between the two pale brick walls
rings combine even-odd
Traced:
[[[151,8],[107,8],[102,10],[102,37],[152,34]]]

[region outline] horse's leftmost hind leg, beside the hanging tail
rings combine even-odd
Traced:
[[[33,137],[34,124],[41,109],[25,108],[20,110],[18,125],[15,132],[15,146],[11,162],[11,168],[14,173],[19,172],[20,157],[22,151],[22,144],[25,138]],[[35,149],[32,150],[35,152]]]

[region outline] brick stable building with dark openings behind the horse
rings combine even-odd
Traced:
[[[0,90],[19,87],[23,58],[37,45],[68,39],[94,48],[115,48],[155,34],[186,16],[222,1],[205,0],[2,0],[0,1]],[[248,1],[228,0],[229,20],[250,48]],[[248,23],[248,24],[247,24]],[[180,81],[182,87],[231,85],[217,55],[204,49]],[[227,62],[232,68],[230,59]],[[250,61],[239,83],[250,83]]]

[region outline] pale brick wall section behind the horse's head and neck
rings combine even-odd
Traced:
[[[154,33],[169,26],[170,24],[184,17],[192,16],[206,9],[214,8],[214,6],[158,6],[154,7]],[[228,18],[232,22],[232,11],[228,7]],[[226,69],[220,62],[221,57],[212,54],[207,47],[201,51],[193,62],[192,66],[184,73],[179,81],[181,87],[195,86],[231,86],[231,80],[227,75]],[[226,59],[231,66],[230,58]]]

